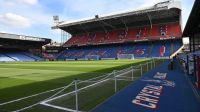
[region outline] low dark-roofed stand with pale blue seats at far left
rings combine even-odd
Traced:
[[[41,61],[42,46],[50,39],[0,33],[0,61]]]

